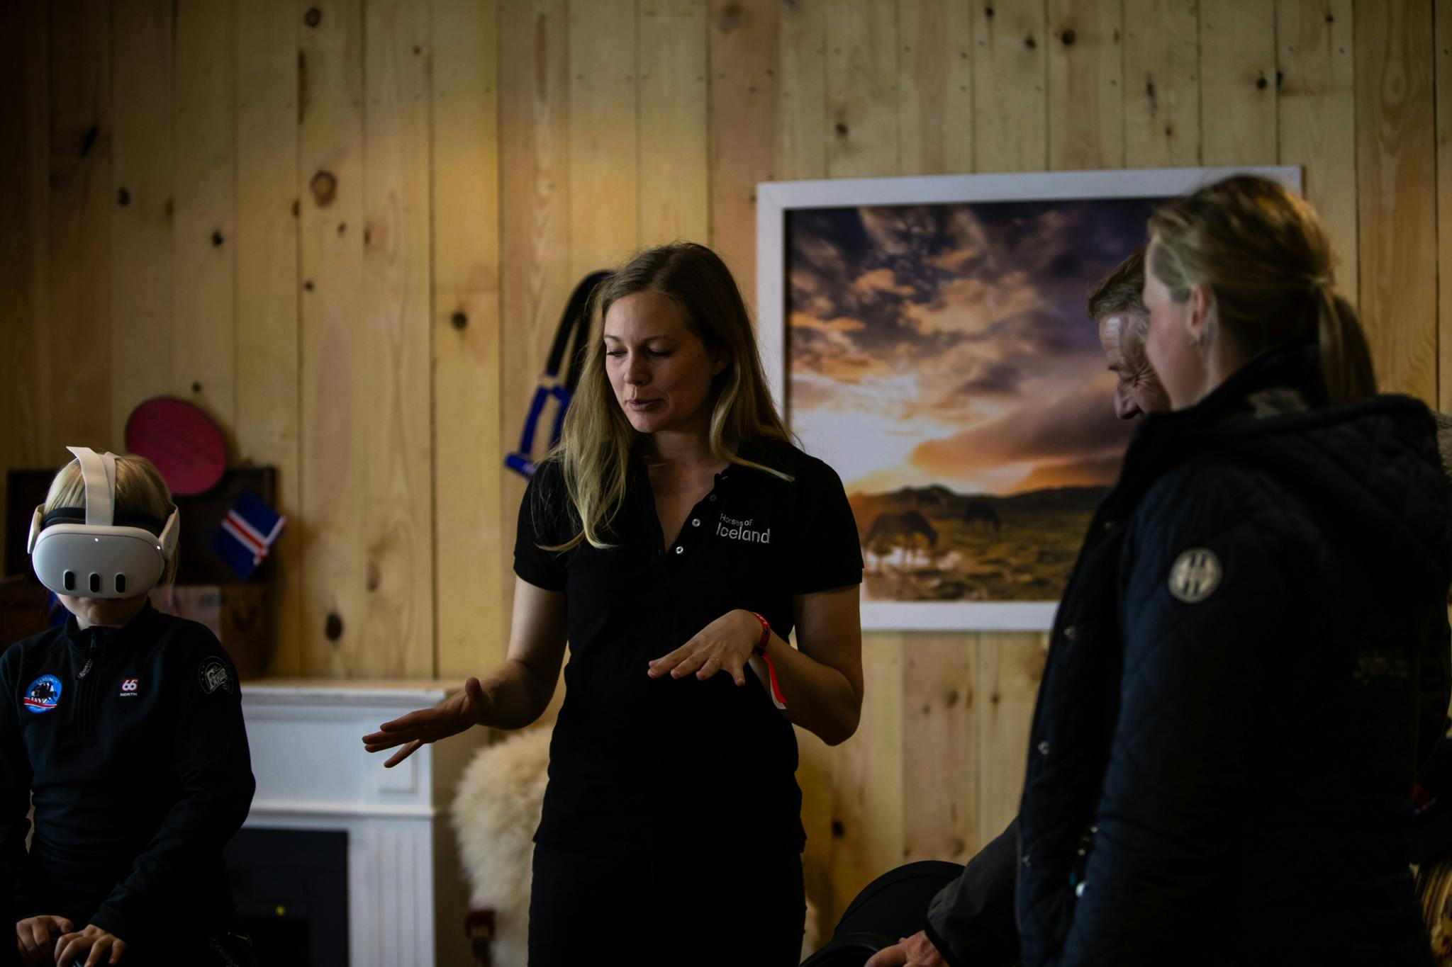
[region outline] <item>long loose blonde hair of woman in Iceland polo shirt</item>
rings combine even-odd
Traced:
[[[624,505],[630,454],[642,435],[630,426],[610,387],[603,331],[610,306],[640,291],[671,300],[707,352],[727,358],[726,368],[711,380],[711,455],[790,478],[738,454],[743,442],[790,436],[767,390],[751,318],[730,270],[716,252],[694,242],[650,248],[600,283],[591,296],[591,338],[579,387],[565,415],[559,447],[550,454],[559,461],[579,531],[552,551],[566,551],[581,541],[608,548],[605,532]]]

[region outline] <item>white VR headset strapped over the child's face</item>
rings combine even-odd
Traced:
[[[84,507],[45,505],[30,519],[26,551],[41,583],[74,597],[145,594],[177,549],[177,509],[166,522],[147,515],[118,515],[116,455],[67,447],[81,464]]]

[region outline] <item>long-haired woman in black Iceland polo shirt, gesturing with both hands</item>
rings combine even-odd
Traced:
[[[563,441],[520,507],[508,658],[369,751],[521,728],[565,668],[534,842],[530,963],[796,964],[791,723],[862,700],[842,483],[788,442],[726,265],[675,244],[595,293]],[[787,644],[797,631],[799,648]]]

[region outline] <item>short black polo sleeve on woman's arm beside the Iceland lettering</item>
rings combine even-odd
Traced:
[[[791,547],[793,594],[812,594],[862,583],[862,542],[857,518],[836,471],[806,458],[794,481],[796,541]]]

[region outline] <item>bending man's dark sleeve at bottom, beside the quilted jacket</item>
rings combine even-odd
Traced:
[[[1018,963],[1016,870],[1018,816],[968,860],[963,876],[932,899],[923,929],[953,967]]]

